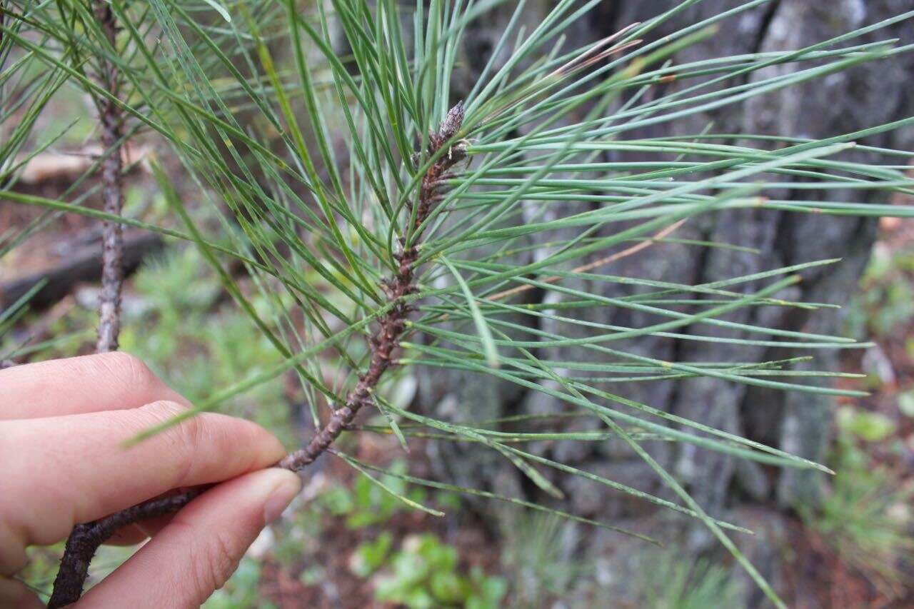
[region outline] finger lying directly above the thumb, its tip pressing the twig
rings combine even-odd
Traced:
[[[205,412],[129,449],[123,441],[183,407],[143,408],[0,422],[0,572],[15,572],[27,545],[62,540],[77,522],[129,508],[182,486],[220,482],[275,464],[282,443],[259,425]],[[12,541],[11,541],[12,539]],[[10,548],[13,550],[10,550]]]

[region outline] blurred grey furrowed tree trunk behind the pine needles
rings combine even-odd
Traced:
[[[504,31],[514,8],[513,4],[509,4],[502,5],[493,18],[486,18],[476,24],[469,33],[467,39],[470,44],[466,49],[466,57],[463,58],[470,72],[467,82],[473,82],[473,71],[478,74],[482,69]],[[633,22],[645,21],[668,9],[671,4],[663,0],[603,2],[591,16],[580,19],[571,27],[566,48],[581,46],[590,40],[608,36]],[[536,25],[550,5],[550,0],[528,2],[524,16],[528,27]],[[706,0],[652,31],[649,39],[653,40],[708,16],[717,15],[735,5],[739,3]],[[909,8],[909,0],[772,0],[767,5],[723,22],[716,36],[677,53],[675,63],[757,51],[802,48],[856,27],[896,16]],[[879,30],[862,40],[857,39],[851,44],[889,37],[899,37],[901,44],[914,41],[914,23],[908,20],[898,26]],[[505,57],[497,59],[504,61],[509,53],[509,50],[505,50]],[[795,65],[775,66],[753,73],[749,78],[765,79],[795,69]],[[824,80],[752,98],[749,102],[729,106],[718,112],[693,115],[685,120],[656,125],[641,133],[623,136],[698,134],[709,123],[713,123],[710,130],[712,133],[780,134],[813,138],[844,134],[914,115],[914,96],[909,94],[912,73],[914,65],[907,56],[878,64],[866,64],[862,68],[835,74]],[[673,82],[664,86],[675,88],[687,85]],[[649,91],[648,94],[651,93],[657,95],[659,91]],[[459,87],[455,95],[460,95]],[[877,135],[867,139],[866,144],[907,148],[912,141],[914,134],[909,130]],[[749,141],[740,144],[758,145]],[[857,154],[861,161],[875,160],[866,159],[866,154]],[[605,160],[623,159],[637,160],[637,156],[613,154]],[[877,202],[875,196],[861,195],[856,191],[836,192],[829,198],[860,200],[861,196]],[[809,191],[785,190],[778,197],[808,199]],[[675,236],[723,241],[755,248],[761,253],[662,244],[614,263],[601,272],[682,283],[706,283],[799,262],[840,257],[843,261],[836,265],[805,272],[804,281],[793,288],[792,296],[811,302],[844,305],[848,297],[854,294],[866,265],[876,237],[876,224],[872,219],[817,217],[743,209],[689,220]],[[543,237],[544,240],[547,238]],[[605,253],[598,252],[594,259]],[[577,263],[582,262],[587,261]],[[618,283],[581,283],[574,287],[611,297],[632,294],[631,288]],[[746,289],[758,287],[750,285]],[[542,292],[528,294],[540,301],[555,297],[555,294]],[[582,311],[578,315],[604,324],[633,327],[647,326],[658,321],[650,315],[611,307]],[[729,318],[760,326],[802,328],[806,332],[823,334],[840,333],[842,322],[840,312],[834,309],[806,315],[799,309],[748,307],[740,309]],[[555,323],[541,321],[540,325],[548,329],[549,324]],[[572,336],[571,331],[574,331],[573,328],[562,329],[566,336]],[[707,327],[689,330],[693,334],[707,331]],[[734,335],[730,333],[728,336]],[[638,338],[625,345],[625,348],[653,358],[684,361],[766,361],[803,355],[795,349],[790,356],[785,356],[782,349],[777,348],[677,341],[661,337]],[[808,365],[810,369],[839,369],[837,352],[820,352],[815,355],[816,360]],[[594,358],[590,351],[572,355],[563,349],[556,349],[547,356],[559,360],[583,360],[583,356]],[[435,408],[439,415],[452,416],[455,420],[479,420],[519,412],[560,411],[563,408],[562,404],[541,393],[526,392],[491,377],[468,379],[466,374],[457,371],[427,369],[420,372],[419,378],[418,403],[426,408]],[[825,457],[834,406],[832,399],[827,396],[750,389],[745,385],[709,378],[678,383],[632,383],[623,387],[613,384],[605,389],[730,433],[769,443],[793,454],[818,461]],[[569,429],[580,429],[587,424],[571,423]],[[667,495],[662,483],[622,442],[553,443],[538,449],[559,461],[573,463],[582,469],[655,494]],[[514,488],[535,494],[535,489],[527,487],[510,465],[503,464],[504,460],[492,452],[450,445],[437,450],[460,453],[451,455],[459,458],[432,459],[433,463],[448,468],[447,472],[441,472],[448,479],[478,486],[482,476],[484,485],[499,488],[503,492]],[[761,540],[754,542],[754,548],[749,550],[755,555],[756,561],[761,562],[757,566],[776,583],[779,579],[778,553],[772,550],[771,544],[777,542],[776,538],[783,534],[783,529],[777,518],[772,521],[769,517],[791,508],[797,502],[814,504],[822,492],[824,481],[820,476],[808,471],[773,470],[696,449],[688,444],[655,443],[648,446],[648,450],[686,485],[709,513],[727,515],[731,519],[741,518],[750,528],[760,529]],[[557,477],[554,482],[567,491],[571,508],[576,513],[616,522],[624,520],[626,526],[650,529],[653,532],[657,532],[658,527],[664,528],[665,534],[660,533],[664,539],[670,540],[671,535],[675,536],[684,545],[685,551],[698,553],[716,548],[716,541],[700,526],[670,529],[669,523],[672,520],[675,519],[681,527],[683,519],[668,518],[668,515],[657,513],[642,502],[634,502],[629,497],[612,493],[604,486],[571,477]],[[544,497],[537,498],[541,500]],[[765,506],[767,512],[758,508],[746,508],[749,505]],[[764,534],[766,531],[769,532],[767,536]],[[638,547],[632,547],[632,542],[621,539],[621,536],[601,530],[590,531],[587,540],[591,550],[600,555],[605,568],[604,575],[609,578],[606,583],[613,586],[614,592],[624,593],[626,577],[622,573],[636,568],[631,557],[632,551],[636,552]],[[614,559],[613,556],[620,558]],[[750,590],[749,586],[747,590]],[[759,602],[760,599],[757,598],[747,599],[748,604]]]

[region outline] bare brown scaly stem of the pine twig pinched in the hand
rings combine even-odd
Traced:
[[[429,155],[434,156],[445,144],[460,131],[463,122],[462,102],[454,106],[441,122],[437,134],[429,136]],[[371,358],[367,371],[361,375],[356,387],[349,391],[342,407],[334,411],[330,421],[314,435],[311,442],[303,448],[288,454],[277,466],[293,472],[301,471],[305,466],[326,451],[345,428],[353,422],[356,413],[372,404],[372,394],[385,371],[394,363],[393,352],[399,347],[406,329],[406,322],[413,307],[407,302],[407,296],[416,292],[415,272],[419,259],[421,225],[428,219],[431,208],[441,199],[441,187],[452,166],[465,158],[462,144],[453,145],[441,155],[422,178],[419,198],[414,210],[415,220],[411,225],[408,238],[401,239],[404,246],[398,255],[399,267],[394,276],[384,283],[391,308],[382,315],[377,323],[377,330],[368,338]],[[408,245],[409,243],[409,245]],[[77,525],[67,540],[64,556],[60,561],[60,570],[54,581],[48,607],[63,607],[77,602],[82,594],[82,587],[89,574],[89,564],[95,551],[112,534],[122,527],[184,508],[192,499],[198,497],[206,487],[199,487],[179,495],[158,497],[133,508],[127,508],[111,516],[87,524]]]

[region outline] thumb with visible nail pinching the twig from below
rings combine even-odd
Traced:
[[[197,607],[228,580],[260,529],[302,488],[271,468],[224,482],[187,504],[80,607]]]

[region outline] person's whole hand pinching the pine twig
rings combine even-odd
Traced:
[[[285,454],[271,433],[221,414],[122,448],[189,405],[120,352],[0,370],[0,606],[44,606],[15,577],[28,546],[202,484],[220,483],[174,516],[119,531],[112,542],[151,540],[72,606],[196,607],[228,580],[302,483],[271,467]]]

